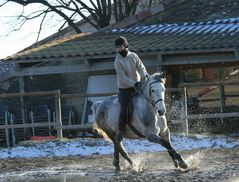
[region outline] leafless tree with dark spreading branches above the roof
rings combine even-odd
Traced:
[[[43,5],[39,11],[27,15],[22,11],[22,14],[18,15],[20,23],[17,29],[20,29],[26,21],[41,17],[39,33],[49,14],[58,15],[62,19],[60,29],[68,24],[76,33],[80,33],[81,30],[76,24],[80,19],[100,29],[110,24],[112,16],[119,21],[134,15],[138,5],[138,0],[5,0],[0,7],[3,8],[12,2],[22,5],[23,9],[30,4]]]

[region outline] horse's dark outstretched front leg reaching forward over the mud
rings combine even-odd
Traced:
[[[165,139],[161,138],[160,136],[158,136],[156,134],[147,136],[147,139],[150,142],[158,143],[158,144],[164,146],[168,150],[168,153],[171,156],[176,168],[178,168],[178,167],[181,167],[183,169],[188,168],[188,165],[186,164],[186,162],[183,160],[183,158],[180,156],[180,154],[178,154],[174,150],[174,148],[172,147],[172,145],[169,141],[166,141]]]

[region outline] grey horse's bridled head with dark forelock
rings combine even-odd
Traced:
[[[148,101],[155,107],[160,116],[163,116],[166,112],[164,103],[165,81],[164,73],[155,73],[145,83],[145,89],[148,90],[148,92],[145,90],[147,92],[146,97],[148,97]]]

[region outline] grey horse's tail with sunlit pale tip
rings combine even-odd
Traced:
[[[101,101],[98,101],[96,103],[93,104],[93,114],[94,114],[94,124],[93,124],[93,130],[94,132],[98,133],[99,135],[101,135],[104,139],[106,140],[110,140],[109,136],[106,134],[106,132],[100,127],[100,119],[97,116],[97,109],[99,107],[99,105],[101,104]]]

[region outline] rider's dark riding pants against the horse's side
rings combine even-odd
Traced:
[[[127,123],[127,106],[130,101],[130,96],[135,92],[134,88],[119,88],[120,116],[119,116],[119,131],[124,132]]]

